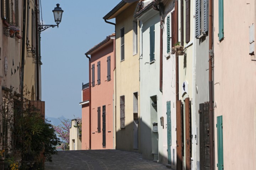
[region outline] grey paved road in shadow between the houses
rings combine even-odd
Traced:
[[[120,150],[59,151],[46,170],[163,170],[165,165],[142,158],[142,154]],[[170,170],[170,169],[169,169]]]

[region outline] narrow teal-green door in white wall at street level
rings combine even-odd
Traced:
[[[168,164],[171,164],[171,102],[166,102],[167,107],[167,152]]]

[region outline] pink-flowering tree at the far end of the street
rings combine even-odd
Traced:
[[[71,128],[70,120],[61,120],[62,125],[54,126],[54,129],[58,136],[62,138],[66,142],[66,144],[69,144],[69,129]]]

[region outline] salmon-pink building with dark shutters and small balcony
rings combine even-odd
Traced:
[[[86,56],[91,55],[91,84],[90,87],[89,84],[84,85],[83,100],[80,103],[82,149],[114,148],[114,39],[115,34],[107,36],[105,40],[85,53]]]

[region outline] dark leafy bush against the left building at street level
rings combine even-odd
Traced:
[[[54,128],[36,107],[22,99],[12,92],[4,94],[0,107],[4,124],[3,147],[14,155],[14,161],[19,156],[22,161],[41,161],[44,159],[41,153],[51,161],[51,155],[57,153],[55,146],[60,143]]]

